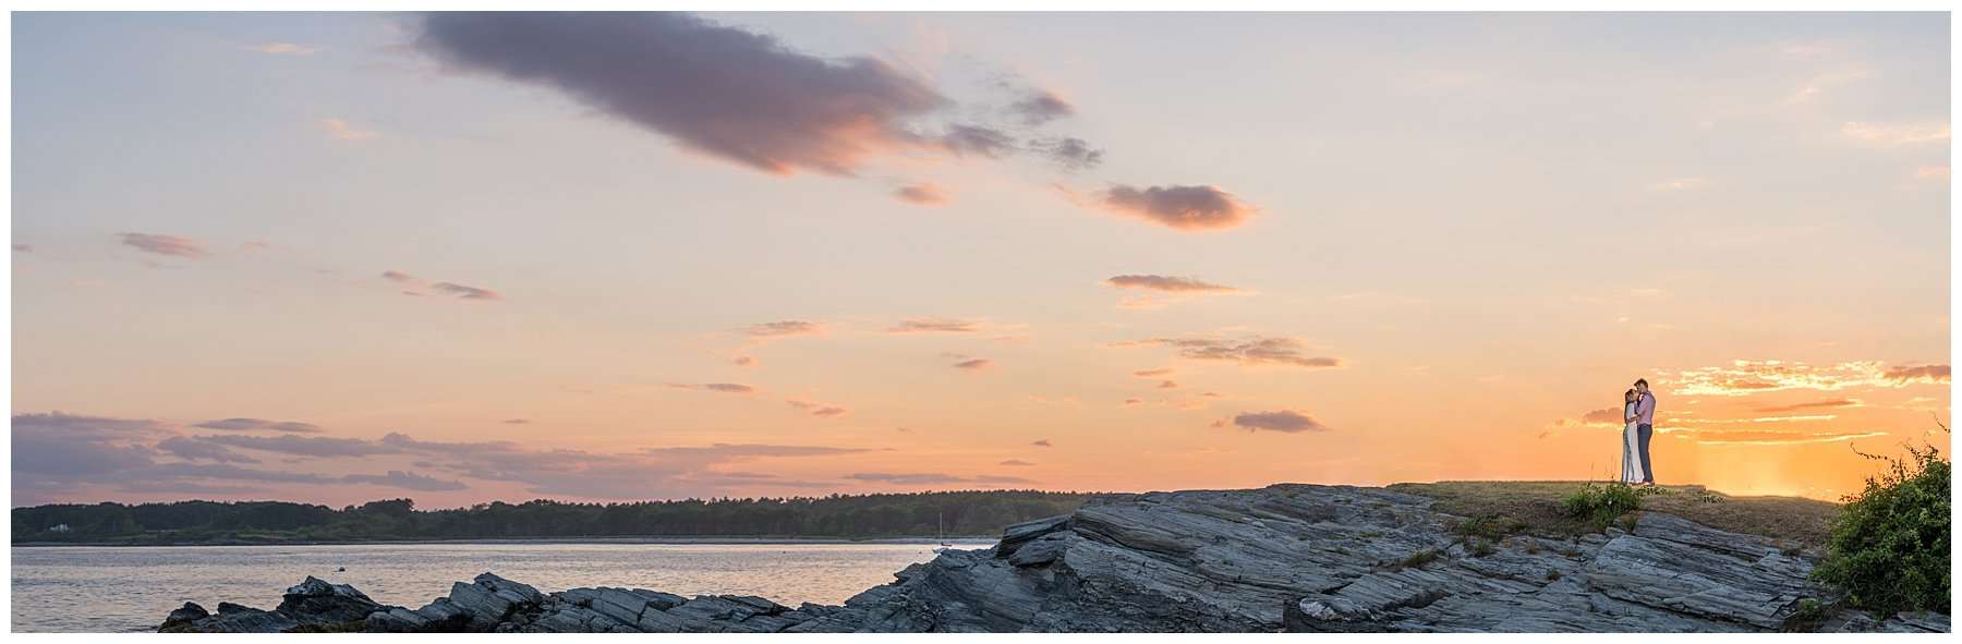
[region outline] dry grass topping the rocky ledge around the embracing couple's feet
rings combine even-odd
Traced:
[[[1511,516],[1524,524],[1521,532],[1575,538],[1599,532],[1585,520],[1562,512],[1562,499],[1583,481],[1438,481],[1395,483],[1391,491],[1430,497],[1432,509],[1458,516]],[[1730,497],[1701,485],[1668,485],[1674,495],[1642,499],[1642,509],[1668,512],[1699,524],[1768,538],[1785,538],[1805,548],[1825,548],[1838,505],[1797,497]],[[1701,495],[1723,501],[1699,501]]]

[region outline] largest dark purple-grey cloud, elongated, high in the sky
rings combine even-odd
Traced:
[[[877,59],[820,59],[689,14],[438,12],[416,45],[775,175],[852,175],[867,157],[932,147],[908,122],[950,104]]]

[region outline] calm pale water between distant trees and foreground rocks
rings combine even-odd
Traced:
[[[987,548],[959,542],[955,548]],[[540,591],[585,585],[842,603],[934,558],[934,544],[388,544],[14,548],[16,632],[149,630],[184,601],[273,609],[306,575],[418,609],[492,571]],[[334,569],[347,567],[337,573]]]

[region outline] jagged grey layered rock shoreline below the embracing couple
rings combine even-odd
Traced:
[[[422,609],[306,577],[273,611],[194,603],[161,632],[1948,632],[1833,611],[1813,562],[1674,514],[1560,540],[1373,487],[1093,499],[950,550],[840,607],[647,589],[542,593],[492,573]]]

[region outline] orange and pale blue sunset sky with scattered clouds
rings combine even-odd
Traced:
[[[1609,479],[1948,434],[1942,14],[16,14],[12,503]]]

